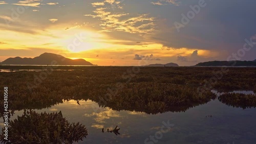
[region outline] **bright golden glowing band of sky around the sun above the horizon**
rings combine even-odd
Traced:
[[[154,54],[155,59],[160,59],[158,61],[148,59],[148,64],[168,63],[175,62],[176,56],[189,57],[196,51],[196,49],[186,48],[162,50],[163,45],[160,43],[146,40],[145,42],[118,40],[103,32],[99,33],[79,27],[65,30],[61,25],[50,27],[44,31],[38,30],[35,34],[4,30],[0,31],[0,35],[2,41],[5,41],[0,44],[1,50],[43,49],[45,52],[65,54],[71,59],[82,58],[98,65],[138,65],[140,62],[134,60],[135,54],[141,56]],[[209,54],[210,51],[198,51],[199,56],[207,57]],[[2,56],[2,60],[4,58],[7,57]]]

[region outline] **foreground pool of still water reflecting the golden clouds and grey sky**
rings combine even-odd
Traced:
[[[190,108],[185,112],[146,114],[143,112],[114,111],[88,101],[65,101],[37,112],[58,112],[70,123],[81,123],[89,135],[80,143],[254,143],[256,141],[255,108],[229,107],[218,100]],[[15,111],[11,119],[22,115]],[[208,117],[206,115],[212,115]],[[158,135],[163,122],[174,125],[167,133]],[[1,118],[1,127],[3,119]],[[120,135],[104,132],[102,128],[121,128]],[[146,140],[154,136],[155,139]],[[155,137],[157,136],[157,137]],[[156,143],[156,142],[153,142]]]

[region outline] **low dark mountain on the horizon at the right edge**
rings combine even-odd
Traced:
[[[195,66],[256,66],[256,61],[208,61]]]

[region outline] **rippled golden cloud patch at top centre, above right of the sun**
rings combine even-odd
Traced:
[[[113,12],[111,8],[122,9],[121,2],[115,0],[105,0],[104,7],[97,7],[95,14],[85,14],[84,16],[91,16],[99,18],[101,24],[99,25],[104,32],[124,31],[134,34],[150,34],[156,29],[155,17],[148,16],[149,14],[130,14],[124,12]],[[92,3],[93,6],[103,6],[102,3]],[[111,7],[108,7],[111,6]]]

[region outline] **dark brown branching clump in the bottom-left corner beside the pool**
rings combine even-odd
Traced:
[[[9,122],[6,130],[5,135],[1,135],[3,143],[7,143],[7,140],[9,143],[73,143],[88,135],[84,125],[70,124],[61,111],[37,113],[34,110],[24,110],[22,116]]]

